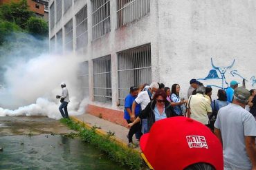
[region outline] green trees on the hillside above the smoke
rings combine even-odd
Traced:
[[[0,6],[0,45],[8,41],[13,33],[33,34],[40,39],[48,36],[48,24],[35,17],[26,0],[6,3]]]

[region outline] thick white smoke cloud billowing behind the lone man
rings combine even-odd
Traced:
[[[88,100],[82,100],[77,79],[78,64],[82,61],[82,57],[73,53],[41,54],[26,60],[23,57],[15,58],[3,73],[0,116],[42,115],[61,118],[58,109],[60,99],[55,96],[62,93],[62,82],[66,83],[71,100],[68,114],[84,113]]]

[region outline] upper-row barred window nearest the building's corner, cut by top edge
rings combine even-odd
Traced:
[[[150,12],[150,0],[117,0],[118,28]]]

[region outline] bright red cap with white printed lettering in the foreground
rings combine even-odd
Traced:
[[[182,170],[195,163],[208,163],[223,170],[219,139],[202,123],[181,116],[158,120],[140,138],[141,154],[154,170]]]

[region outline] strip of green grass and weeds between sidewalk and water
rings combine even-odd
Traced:
[[[69,128],[78,131],[79,136],[83,141],[89,142],[94,147],[107,153],[107,156],[109,156],[111,160],[120,163],[120,165],[129,167],[130,169],[140,169],[142,166],[142,160],[139,154],[133,149],[122,147],[114,142],[111,139],[113,133],[108,133],[107,136],[100,136],[96,134],[95,127],[86,129],[83,125],[74,123],[73,120],[66,118],[62,118],[60,121],[66,124]]]

